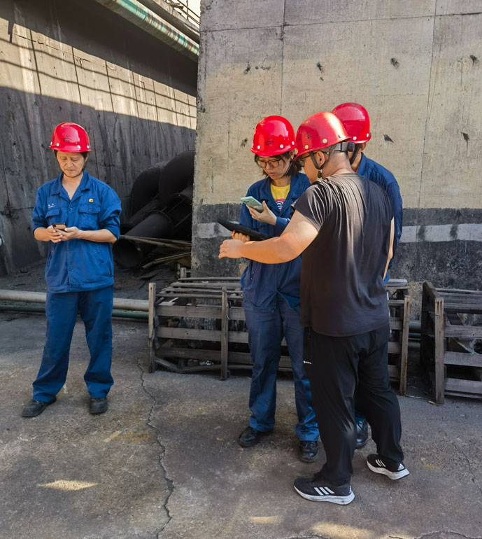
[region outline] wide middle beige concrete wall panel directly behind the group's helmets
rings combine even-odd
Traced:
[[[315,112],[355,101],[371,118],[368,157],[399,179],[418,203],[432,59],[430,18],[398,18],[287,27],[282,113],[295,129]],[[309,39],[306,36],[318,36]],[[360,62],[351,61],[353,50]],[[302,76],[300,76],[302,74]],[[404,185],[402,178],[411,183]],[[408,198],[407,198],[408,197]]]

